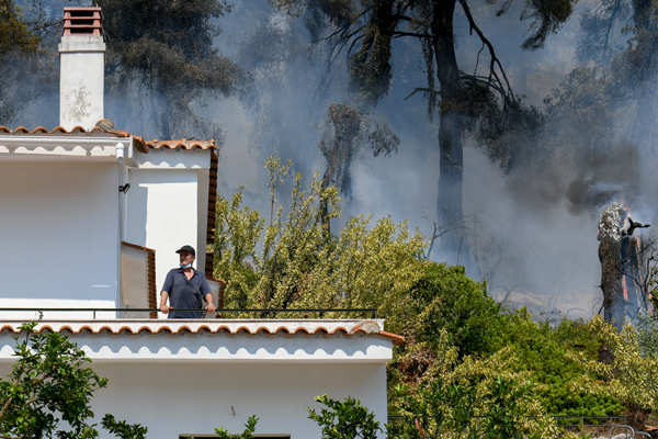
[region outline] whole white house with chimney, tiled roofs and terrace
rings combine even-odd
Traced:
[[[126,311],[156,307],[181,245],[212,279],[218,156],[213,140],[145,140],[104,119],[101,20],[65,9],[60,126],[0,126],[0,375],[18,327],[46,308],[37,330],[69,335],[110,379],[97,415],[151,438],[212,437],[252,414],[259,437],[319,438],[306,407],[320,394],[358,397],[384,424],[386,362],[402,338],[382,319]]]

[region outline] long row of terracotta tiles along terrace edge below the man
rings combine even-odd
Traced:
[[[16,324],[5,324],[0,326],[0,334],[11,333],[19,334],[20,325]],[[330,326],[330,327],[328,327]],[[133,325],[118,325],[118,323],[110,325],[110,324],[89,324],[89,323],[66,323],[57,325],[55,323],[43,323],[37,325],[37,333],[44,331],[58,331],[58,333],[68,333],[68,334],[112,334],[112,335],[138,335],[138,334],[228,334],[228,335],[286,335],[294,336],[297,334],[304,334],[308,336],[314,335],[342,335],[345,337],[354,336],[354,335],[375,335],[379,337],[387,338],[395,344],[404,344],[405,337],[399,336],[397,334],[387,333],[385,330],[379,329],[379,325],[374,320],[364,320],[356,325],[351,325],[350,323],[345,323],[344,325],[309,325],[305,326],[303,323],[291,324],[290,322],[281,320],[281,323],[276,322],[268,322],[268,325],[261,325],[258,327],[251,327],[249,325],[236,325],[227,323],[223,324],[222,322],[214,322],[212,324],[198,324],[198,323],[145,323],[139,322]]]

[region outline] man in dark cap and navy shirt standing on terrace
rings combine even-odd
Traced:
[[[202,318],[203,302],[208,314],[215,312],[213,294],[205,275],[192,267],[196,252],[192,246],[183,246],[175,251],[180,257],[180,267],[167,273],[160,292],[160,312],[169,314],[169,318]],[[169,299],[169,306],[167,305]],[[198,311],[177,311],[198,309]]]

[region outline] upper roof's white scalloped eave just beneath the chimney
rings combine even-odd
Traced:
[[[133,160],[133,137],[0,134],[0,160]]]

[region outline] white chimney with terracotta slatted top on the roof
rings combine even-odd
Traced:
[[[105,43],[101,8],[64,8],[59,43],[59,125],[91,130],[103,119]]]

